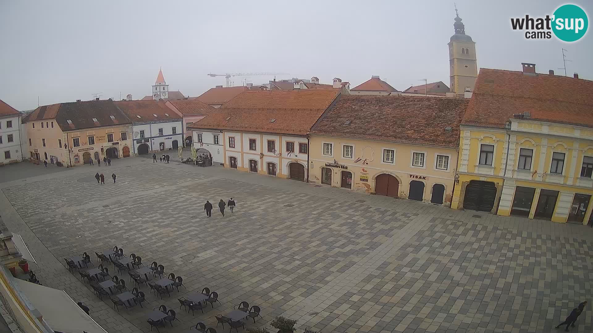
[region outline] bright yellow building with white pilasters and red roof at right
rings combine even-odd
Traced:
[[[481,69],[461,123],[452,208],[589,223],[593,82]]]

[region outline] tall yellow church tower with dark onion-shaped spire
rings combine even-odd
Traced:
[[[466,27],[461,22],[455,6],[455,34],[449,40],[449,91],[463,96],[466,91],[474,91],[478,76],[476,43],[466,35]]]

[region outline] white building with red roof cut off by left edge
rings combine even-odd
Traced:
[[[21,119],[23,114],[0,100],[0,165],[23,160]]]

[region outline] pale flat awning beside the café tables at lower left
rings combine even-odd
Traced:
[[[107,333],[63,290],[19,280],[18,285],[54,331],[63,333]]]

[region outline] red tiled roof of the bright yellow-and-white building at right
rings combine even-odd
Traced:
[[[514,114],[593,127],[593,81],[481,68],[463,124],[503,128]]]

